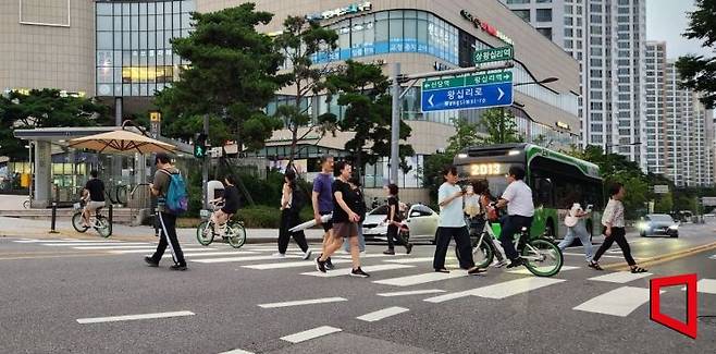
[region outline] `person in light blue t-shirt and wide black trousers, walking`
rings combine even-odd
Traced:
[[[472,245],[465,216],[462,212],[462,196],[465,192],[457,183],[457,169],[448,166],[443,170],[445,183],[440,186],[437,192],[437,203],[440,204],[440,223],[437,228],[437,240],[435,242],[435,257],[433,258],[433,269],[437,272],[447,273],[445,269],[445,255],[450,240],[455,239],[458,252],[460,254],[460,268],[467,269],[469,274],[483,272],[484,269],[474,266],[472,260]]]

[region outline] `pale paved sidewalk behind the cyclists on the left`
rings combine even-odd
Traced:
[[[88,230],[86,233],[79,233],[74,230],[70,220],[58,220],[55,230],[60,235],[75,239],[96,239],[97,233]],[[57,234],[49,233],[49,220],[32,220],[20,218],[0,217],[0,236],[2,237],[32,237],[46,239],[57,237]],[[176,229],[176,234],[181,240],[196,239],[196,229]],[[247,229],[246,243],[274,243],[279,237],[276,229]],[[308,242],[321,242],[323,230],[310,229],[306,231]],[[114,224],[110,239],[124,241],[155,241],[155,229],[151,227],[129,227]]]

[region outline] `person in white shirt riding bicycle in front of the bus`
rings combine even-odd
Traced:
[[[499,242],[505,249],[505,255],[509,258],[510,264],[507,268],[519,267],[523,265],[522,258],[515,249],[513,244],[514,235],[532,225],[532,217],[534,217],[534,203],[532,202],[532,190],[524,183],[524,169],[518,166],[509,168],[506,178],[509,182],[505,193],[497,202],[498,209],[507,206],[507,217],[502,225],[499,233]],[[520,240],[518,244],[522,244],[527,240]]]

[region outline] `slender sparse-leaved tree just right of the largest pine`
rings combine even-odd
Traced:
[[[331,130],[332,115],[326,114],[312,121],[309,113],[309,96],[317,95],[325,88],[328,65],[318,68],[311,58],[334,51],[338,35],[333,29],[324,28],[319,23],[303,16],[288,16],[283,23],[283,32],[273,40],[280,52],[292,68],[281,77],[288,89],[294,91],[293,102],[276,108],[275,117],[283,121],[283,126],[291,132],[289,163],[296,157],[298,142],[314,131],[325,134]],[[295,89],[295,90],[294,90]],[[299,135],[299,130],[305,132]]]

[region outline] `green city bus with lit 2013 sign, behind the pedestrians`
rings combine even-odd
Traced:
[[[591,235],[601,232],[600,220],[604,208],[603,181],[596,164],[532,144],[502,144],[470,147],[454,159],[462,181],[485,180],[493,196],[499,197],[507,187],[507,171],[520,166],[527,172],[527,184],[532,188],[534,220],[531,235],[546,234],[564,237],[567,228],[558,210],[569,209],[576,199],[582,208],[592,205],[587,219]]]

